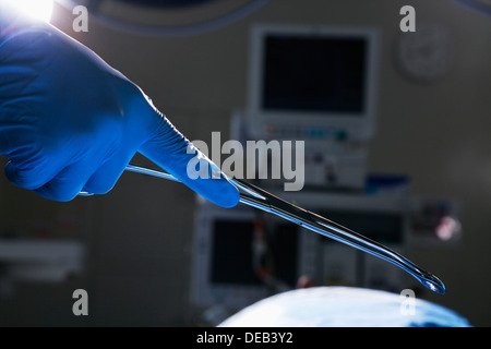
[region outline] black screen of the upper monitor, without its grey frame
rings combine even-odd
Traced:
[[[364,37],[267,35],[264,39],[264,110],[364,110]]]

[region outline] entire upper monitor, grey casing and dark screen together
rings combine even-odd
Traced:
[[[369,141],[378,56],[374,28],[254,25],[248,130],[256,139]]]

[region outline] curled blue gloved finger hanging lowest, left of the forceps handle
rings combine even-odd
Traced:
[[[68,202],[79,195],[93,173],[93,161],[85,158],[67,166],[53,179],[34,192],[45,198]]]

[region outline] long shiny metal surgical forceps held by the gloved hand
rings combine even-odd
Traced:
[[[129,165],[125,170],[179,182],[177,178],[169,173],[137,167],[134,165]],[[412,262],[387,249],[386,246],[312,212],[290,204],[255,185],[238,179],[230,179],[230,182],[239,189],[241,203],[274,214],[301,227],[315,231],[324,237],[375,255],[379,258],[390,262],[403,270],[406,270],[431,291],[440,294],[445,293],[445,286],[438,277],[421,269]]]

